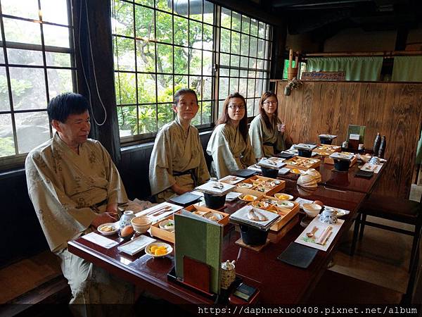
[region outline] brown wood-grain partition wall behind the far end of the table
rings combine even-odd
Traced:
[[[422,83],[304,82],[284,96],[277,82],[279,117],[290,142],[317,142],[318,135],[346,138],[348,125],[365,125],[364,144],[373,147],[377,132],[385,135],[389,160],[376,192],[408,198],[421,135]]]

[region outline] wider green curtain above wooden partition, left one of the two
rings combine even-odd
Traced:
[[[315,57],[308,58],[307,71],[344,71],[346,80],[380,80],[383,57]]]

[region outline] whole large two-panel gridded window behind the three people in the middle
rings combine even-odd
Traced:
[[[167,0],[111,1],[122,142],[149,139],[173,120],[173,95],[184,87],[198,94],[192,124],[199,128],[212,124],[232,92],[243,94],[249,116],[257,114],[269,86],[269,25],[208,1],[199,8],[186,1],[183,9],[177,1],[171,8]]]

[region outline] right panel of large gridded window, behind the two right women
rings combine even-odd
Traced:
[[[262,92],[269,87],[270,26],[226,8],[220,21],[219,113],[227,95],[239,92],[246,99],[248,116],[256,116]]]

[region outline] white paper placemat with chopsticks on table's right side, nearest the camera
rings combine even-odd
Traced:
[[[335,235],[337,235],[338,231],[340,230],[341,226],[343,225],[343,223],[345,222],[345,220],[343,219],[338,219],[338,222],[333,224],[333,225],[329,225],[328,223],[322,223],[321,221],[319,221],[319,216],[316,216],[311,223],[309,223],[309,225],[307,226],[307,228],[305,228],[305,230],[303,230],[303,232],[299,235],[299,237],[295,240],[295,242],[300,243],[300,244],[304,244],[308,247],[312,247],[315,249],[319,249],[321,251],[327,251],[328,247],[330,247],[331,242],[333,242]],[[319,244],[317,242],[319,242],[319,239],[321,238],[321,235],[324,234],[324,232],[326,232],[326,230],[329,230],[328,227],[331,226],[331,231],[328,232],[328,235],[326,235],[326,242],[324,244]],[[313,237],[307,237],[307,232],[311,232],[312,229],[316,227],[316,231],[314,232],[314,236]]]

